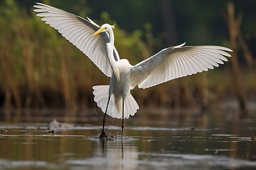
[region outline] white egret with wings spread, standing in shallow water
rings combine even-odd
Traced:
[[[139,109],[130,94],[135,86],[148,88],[181,76],[196,74],[218,67],[228,61],[232,50],[222,46],[183,46],[185,43],[161,50],[154,56],[130,65],[120,59],[114,46],[114,26],[101,27],[91,19],[81,18],[58,8],[37,3],[34,11],[51,27],[57,29],[65,39],[72,42],[106,75],[111,76],[109,86],[93,86],[94,101],[104,112],[100,138],[108,138],[104,130],[106,114],[123,120],[134,116]]]

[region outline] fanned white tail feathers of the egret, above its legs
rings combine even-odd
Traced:
[[[97,106],[101,108],[101,111],[105,113],[109,99],[109,86],[93,86],[93,90],[94,101],[97,103]],[[124,118],[129,118],[130,115],[134,116],[138,109],[139,105],[130,92],[128,92],[124,105]],[[110,97],[107,114],[113,118],[122,118],[122,109],[115,107],[114,95]]]

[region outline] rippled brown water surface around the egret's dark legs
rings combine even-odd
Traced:
[[[98,139],[99,111],[0,115],[0,169],[256,168],[255,112],[140,109],[123,139],[121,120],[107,118],[112,140]]]

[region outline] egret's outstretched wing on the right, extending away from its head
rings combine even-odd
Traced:
[[[148,88],[181,76],[207,71],[213,66],[218,67],[218,63],[228,61],[224,56],[231,57],[224,50],[232,50],[222,46],[184,44],[163,49],[135,65],[131,70],[130,88],[137,85],[139,88]]]

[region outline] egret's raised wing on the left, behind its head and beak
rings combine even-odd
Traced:
[[[100,26],[89,18],[86,20],[43,3],[37,4],[34,5],[36,8],[34,11],[39,12],[37,16],[43,17],[42,20],[46,21],[46,24],[57,29],[65,39],[79,48],[106,76],[111,76],[112,68],[106,51],[106,43],[109,42],[107,32],[100,33],[100,36],[92,36],[94,32],[100,29]],[[113,55],[118,61],[119,56],[115,48]]]

